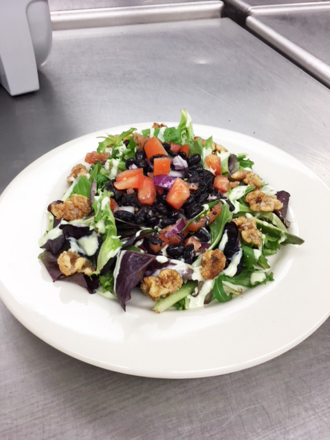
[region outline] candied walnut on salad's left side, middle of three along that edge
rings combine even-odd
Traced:
[[[79,194],[73,194],[69,199],[60,203],[53,202],[49,209],[56,220],[66,221],[83,219],[91,212],[89,198]]]

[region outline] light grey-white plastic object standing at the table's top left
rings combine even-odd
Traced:
[[[39,90],[52,47],[47,0],[0,0],[0,83],[10,95]]]

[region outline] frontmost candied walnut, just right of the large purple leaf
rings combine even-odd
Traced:
[[[182,285],[182,278],[177,270],[163,269],[158,276],[143,278],[141,290],[144,295],[149,295],[153,300],[161,296],[168,296],[177,292]]]

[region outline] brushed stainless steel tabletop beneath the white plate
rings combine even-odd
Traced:
[[[67,140],[181,108],[282,148],[330,185],[329,89],[229,19],[54,32],[40,81],[17,98],[0,89],[0,190]],[[329,319],[252,369],[155,380],[69,358],[0,310],[1,439],[329,439]]]

